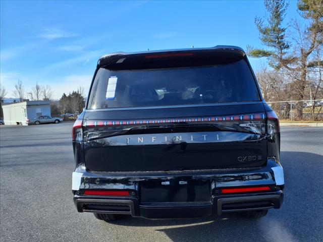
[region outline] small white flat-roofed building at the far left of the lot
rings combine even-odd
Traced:
[[[11,104],[3,103],[5,125],[28,125],[28,119],[50,116],[50,101],[24,101]]]

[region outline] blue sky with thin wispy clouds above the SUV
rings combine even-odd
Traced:
[[[290,2],[286,22],[299,16]],[[87,92],[97,59],[109,52],[210,47],[261,47],[254,25],[262,1],[216,2],[1,2],[1,84],[7,97],[23,81],[38,81],[54,98],[83,86]],[[265,62],[250,58],[255,70]]]

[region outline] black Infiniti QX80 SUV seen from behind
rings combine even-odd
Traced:
[[[240,47],[102,56],[72,135],[75,205],[104,221],[283,201],[279,121]]]

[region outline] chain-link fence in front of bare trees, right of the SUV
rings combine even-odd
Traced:
[[[280,119],[323,120],[323,99],[267,102]]]

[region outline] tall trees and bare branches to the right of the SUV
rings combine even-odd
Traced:
[[[247,47],[248,55],[265,57],[269,67],[256,73],[266,101],[312,100],[311,119],[322,118],[323,98],[323,0],[299,0],[301,21],[287,22],[288,3],[265,0],[266,18],[255,18],[263,49]],[[295,109],[295,119],[304,119],[304,103],[274,104],[277,109]],[[320,114],[320,116],[319,116]]]

